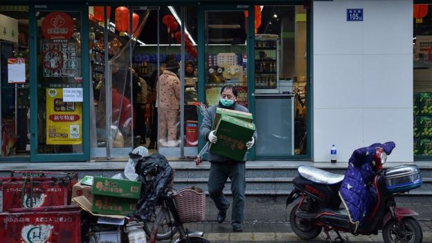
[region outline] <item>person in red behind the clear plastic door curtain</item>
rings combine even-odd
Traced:
[[[116,71],[112,75],[111,99],[112,99],[112,125],[116,125],[123,134],[123,138],[129,140],[132,129],[135,129],[134,107],[130,100],[123,95],[125,87],[125,73]],[[133,113],[133,114],[132,114]],[[127,141],[125,141],[127,145]]]

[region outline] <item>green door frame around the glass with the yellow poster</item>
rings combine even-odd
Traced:
[[[82,153],[68,154],[38,154],[38,120],[37,111],[39,109],[37,100],[37,11],[73,11],[81,12],[82,15],[82,34],[81,34],[81,59],[82,59]],[[89,8],[84,4],[77,5],[30,5],[29,6],[29,24],[30,24],[30,161],[89,161],[90,159],[90,117],[89,117]]]

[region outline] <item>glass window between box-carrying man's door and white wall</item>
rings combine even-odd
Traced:
[[[306,10],[255,6],[254,18],[256,155],[307,154]]]

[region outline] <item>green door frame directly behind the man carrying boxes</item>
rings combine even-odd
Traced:
[[[199,102],[206,102],[206,53],[205,53],[205,38],[206,38],[206,26],[205,26],[205,12],[206,11],[244,11],[248,10],[251,12],[249,16],[255,16],[255,8],[253,5],[198,5],[197,9],[197,16],[198,16],[198,46],[201,48],[198,48],[198,80],[201,80],[200,84],[198,86],[198,100]],[[254,86],[254,73],[253,70],[255,69],[255,55],[253,55],[254,50],[253,47],[255,46],[255,35],[254,35],[254,19],[248,18],[248,31],[247,31],[247,46],[246,46],[246,54],[248,56],[248,65],[247,65],[247,86],[248,86],[248,109],[253,116],[255,116],[255,96],[253,96],[253,93],[255,92],[255,86]],[[201,126],[203,117],[201,114],[199,114],[199,126]],[[206,141],[204,138],[201,138],[199,136],[199,147],[198,150],[200,151],[202,147],[206,144]],[[204,157],[206,159],[206,157]],[[255,160],[255,147],[252,147],[251,150],[247,153],[247,160],[253,161]]]

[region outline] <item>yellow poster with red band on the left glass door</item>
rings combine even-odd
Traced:
[[[46,89],[46,144],[82,143],[82,102],[63,100],[63,89]]]

